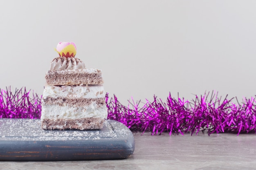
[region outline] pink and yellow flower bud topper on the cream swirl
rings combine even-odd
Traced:
[[[74,42],[59,42],[55,51],[60,57],[75,57],[76,44]]]

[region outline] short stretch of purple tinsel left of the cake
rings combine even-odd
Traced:
[[[0,118],[40,119],[42,96],[29,93],[25,87],[14,93],[11,87],[0,89]]]

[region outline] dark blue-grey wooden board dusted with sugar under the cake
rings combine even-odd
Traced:
[[[43,130],[40,119],[0,119],[0,161],[125,159],[132,155],[132,132],[106,120],[101,130]]]

